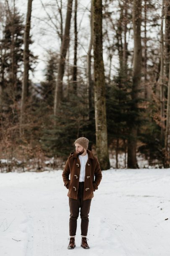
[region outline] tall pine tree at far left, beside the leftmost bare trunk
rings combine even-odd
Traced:
[[[21,65],[23,61],[23,18],[15,11],[9,11],[3,30],[3,39],[0,40],[1,63],[3,76],[2,87],[8,95],[10,104],[21,98]]]

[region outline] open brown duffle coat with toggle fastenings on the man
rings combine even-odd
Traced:
[[[88,149],[87,154],[88,160],[85,167],[83,200],[92,199],[94,197],[93,192],[98,189],[102,179],[102,172],[97,157],[94,157],[92,151]],[[80,176],[80,160],[76,154],[76,151],[72,152],[68,157],[62,176],[64,186],[68,189],[68,197],[77,199]]]

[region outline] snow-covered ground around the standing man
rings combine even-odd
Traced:
[[[170,256],[170,169],[103,171],[89,214],[90,250],[68,250],[62,171],[0,173],[0,256]]]

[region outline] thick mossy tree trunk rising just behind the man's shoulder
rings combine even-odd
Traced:
[[[105,73],[102,52],[102,0],[93,0],[94,107],[96,147],[102,170],[110,168],[107,147]]]

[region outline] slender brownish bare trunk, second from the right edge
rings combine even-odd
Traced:
[[[165,88],[164,88],[164,0],[162,0],[162,17],[161,17],[161,57],[160,57],[160,118],[161,118],[161,141],[163,144],[165,138]]]

